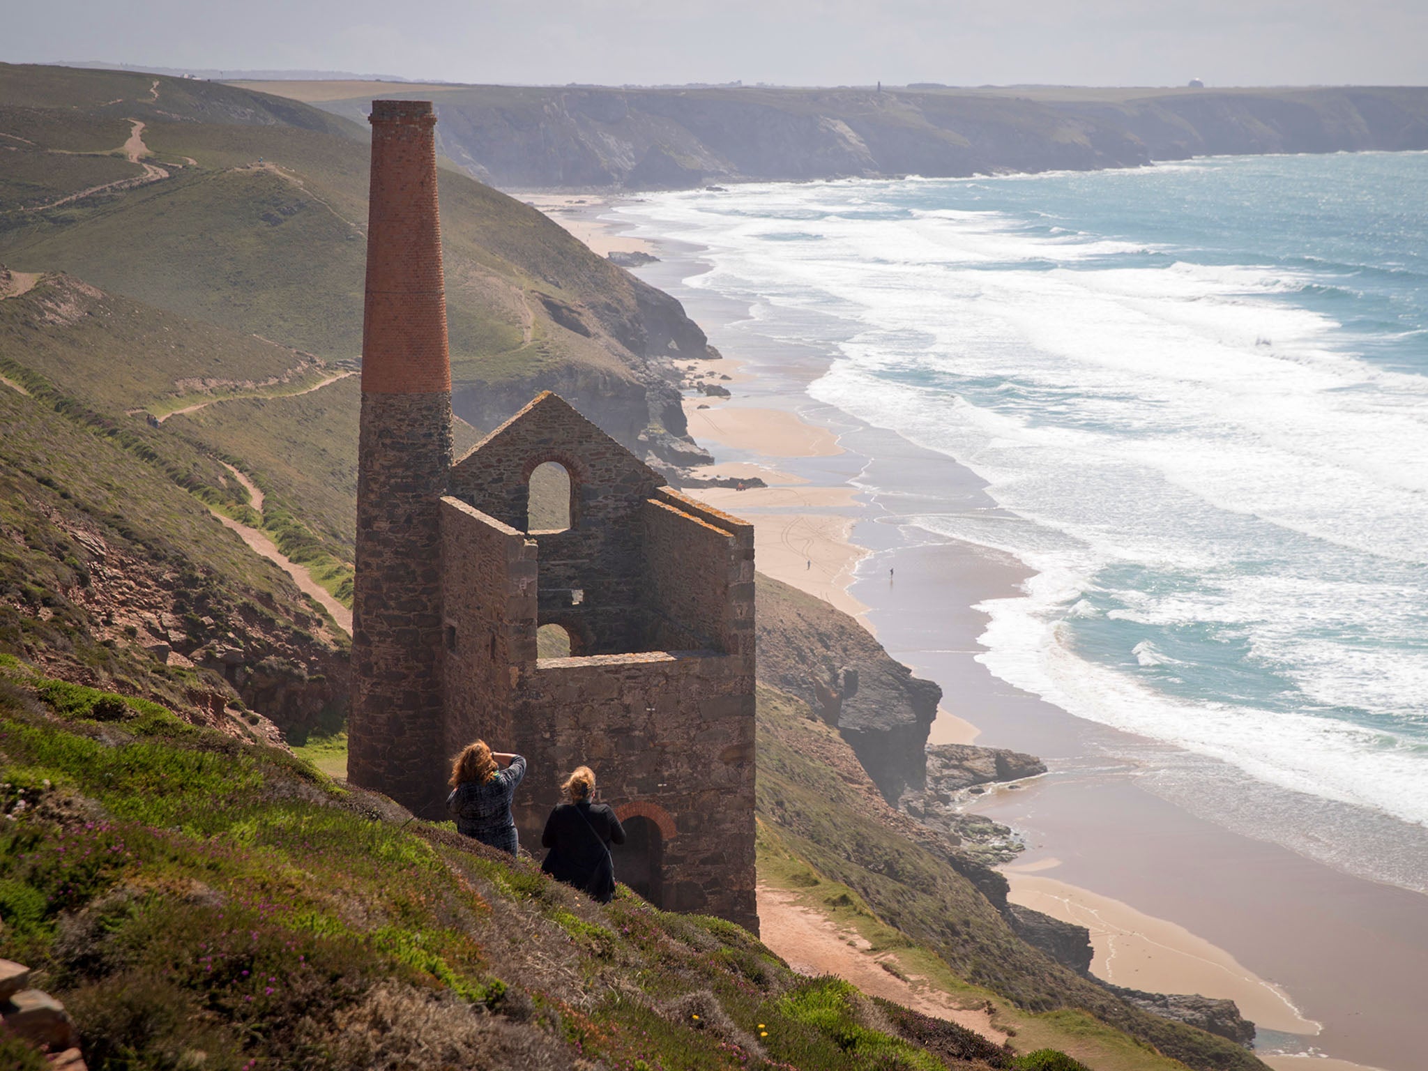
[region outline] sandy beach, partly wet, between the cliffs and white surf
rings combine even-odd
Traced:
[[[588,227],[600,240],[604,228],[605,241],[630,241],[597,218],[607,206],[564,206],[577,211],[554,218],[573,233]],[[1087,925],[1092,972],[1107,981],[1235,1000],[1277,1071],[1418,1071],[1428,897],[1247,835],[1252,823],[1235,831],[1208,820],[1167,798],[1162,783],[1174,777],[1162,773],[1190,765],[1181,753],[992,677],[977,661],[987,618],[974,607],[1014,595],[1028,570],[907,520],[997,516],[982,483],[945,456],[814,403],[805,386],[827,356],[774,343],[747,310],[683,286],[703,268],[698,250],[645,244],[661,260],[641,277],[684,301],[738,358],[731,398],[694,397],[687,407],[691,433],[715,456],[708,471],[770,484],[694,493],[754,523],[761,571],[855,614],[942,687],[931,743],[975,738],[1051,767],[1028,788],[988,793],[977,805],[1027,838],[1008,868],[1012,898]],[[734,363],[721,364],[734,383]]]

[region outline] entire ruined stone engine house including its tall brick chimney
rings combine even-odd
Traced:
[[[591,765],[658,907],[757,928],[754,533],[545,393],[451,456],[436,116],[373,101],[348,777],[443,818],[450,757],[530,763],[521,843]],[[533,531],[555,463],[568,527]],[[571,657],[537,655],[557,625]]]

